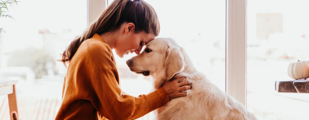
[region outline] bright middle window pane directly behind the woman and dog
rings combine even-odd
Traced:
[[[158,37],[171,37],[184,47],[195,68],[225,91],[226,1],[145,0],[157,12],[161,31]],[[175,4],[177,2],[177,4]],[[109,4],[111,2],[109,1]],[[153,91],[151,77],[132,73],[125,61],[135,56],[115,55],[121,88],[133,96]],[[154,114],[140,119],[153,119]]]

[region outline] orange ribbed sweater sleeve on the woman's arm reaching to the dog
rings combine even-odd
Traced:
[[[138,97],[121,94],[114,76],[115,72],[116,70],[112,68],[101,69],[93,79],[95,95],[91,99],[93,99],[95,108],[105,118],[110,120],[136,119],[168,102],[168,95],[163,88]]]

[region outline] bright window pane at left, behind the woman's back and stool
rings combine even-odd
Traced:
[[[8,10],[16,21],[0,17],[6,31],[0,82],[18,80],[19,119],[54,119],[67,72],[56,60],[87,27],[87,0],[21,0]],[[7,96],[0,106],[0,120],[9,120]]]

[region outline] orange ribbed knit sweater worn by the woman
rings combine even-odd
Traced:
[[[139,97],[122,94],[113,53],[94,34],[70,61],[56,120],[136,119],[168,101],[163,88]]]

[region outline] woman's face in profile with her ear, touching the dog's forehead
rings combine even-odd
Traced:
[[[133,24],[134,25],[134,24]],[[134,32],[134,26],[128,27],[124,34],[116,41],[115,52],[123,58],[129,53],[139,54],[144,45],[152,41],[156,36],[146,32]]]

